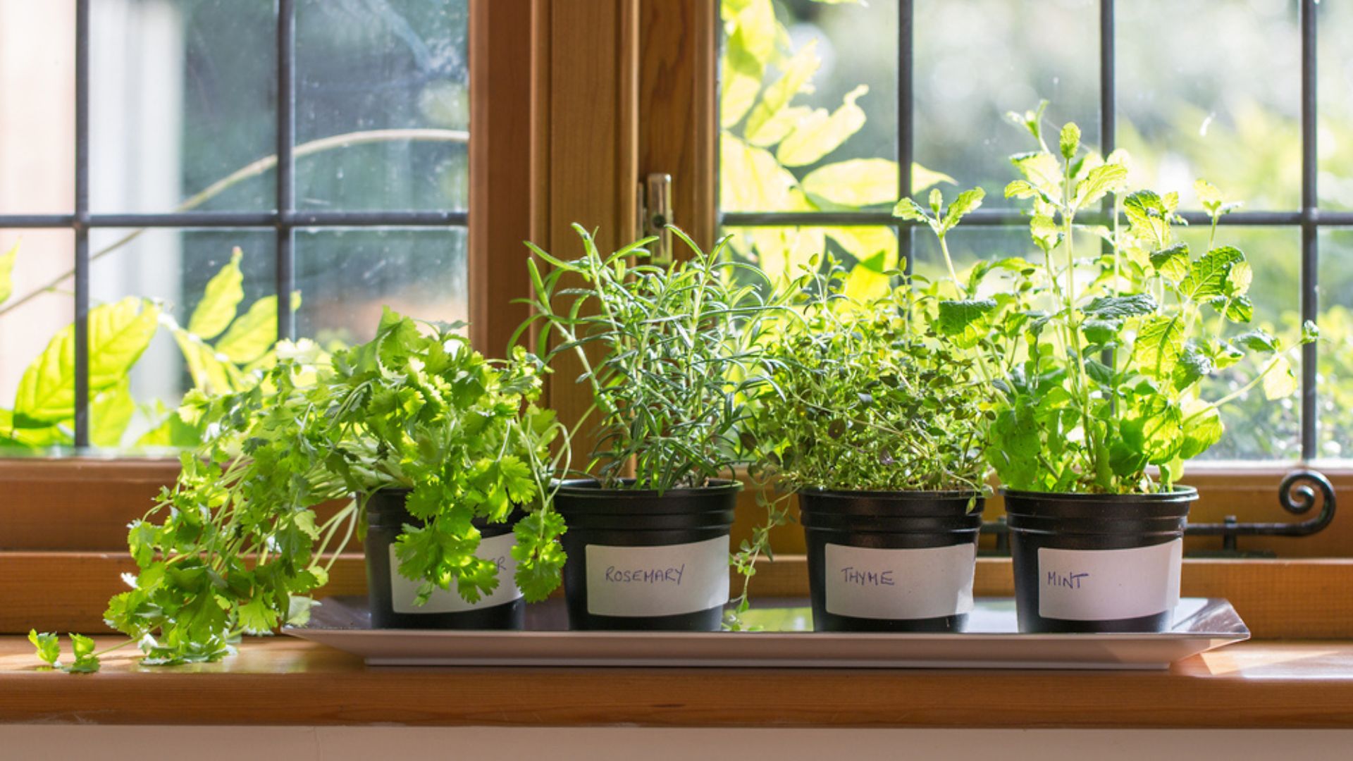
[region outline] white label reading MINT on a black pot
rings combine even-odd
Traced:
[[[1069,622],[1138,619],[1180,601],[1184,540],[1131,550],[1038,550],[1038,615]]]

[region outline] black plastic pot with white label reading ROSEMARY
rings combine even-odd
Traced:
[[[728,529],[741,483],[602,489],[564,481],[564,594],[575,630],[716,631],[728,603]]]

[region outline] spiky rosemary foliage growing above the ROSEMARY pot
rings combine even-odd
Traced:
[[[764,276],[729,261],[727,238],[705,253],[672,227],[691,257],[659,267],[643,261],[653,238],[602,255],[587,230],[574,229],[584,255],[571,261],[528,244],[552,269],[528,261],[534,314],[517,337],[538,325],[540,356],[571,353],[582,364],[579,382],[593,391],[587,417],[597,416],[587,471],[607,489],[658,492],[731,477],[746,460],[739,428],[775,307]]]

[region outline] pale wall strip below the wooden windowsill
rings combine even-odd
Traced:
[[[160,750],[156,750],[160,749]],[[169,750],[166,750],[169,749]],[[0,758],[116,761],[161,756],[384,761],[540,758],[813,761],[1227,761],[1353,758],[1353,730],[659,730],[501,727],[0,726]]]

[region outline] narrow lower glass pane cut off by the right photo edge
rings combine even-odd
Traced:
[[[1321,232],[1318,456],[1353,458],[1353,229]]]

